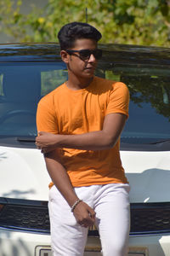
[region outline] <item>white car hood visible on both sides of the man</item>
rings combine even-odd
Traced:
[[[121,151],[131,202],[169,201],[170,151]],[[50,177],[36,148],[0,147],[0,197],[48,200]]]

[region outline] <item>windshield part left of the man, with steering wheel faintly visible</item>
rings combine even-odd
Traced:
[[[62,62],[0,66],[0,136],[36,136],[37,102],[66,79]]]

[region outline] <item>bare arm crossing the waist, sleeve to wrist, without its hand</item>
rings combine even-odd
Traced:
[[[112,148],[126,122],[126,116],[120,113],[111,113],[105,117],[102,131],[91,131],[77,135],[56,135],[56,143],[60,148],[77,148],[84,150],[103,150]]]

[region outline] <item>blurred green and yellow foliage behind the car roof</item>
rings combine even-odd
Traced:
[[[24,15],[24,1],[0,1],[0,31],[15,42],[56,42],[59,28],[87,21],[103,34],[101,43],[170,46],[169,0],[48,0]]]

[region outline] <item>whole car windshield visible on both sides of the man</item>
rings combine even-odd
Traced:
[[[122,132],[122,143],[155,143],[169,139],[167,67],[101,63],[96,75],[121,80],[130,91],[129,118]],[[63,62],[3,63],[0,66],[0,138],[37,136],[37,102],[66,79]]]

